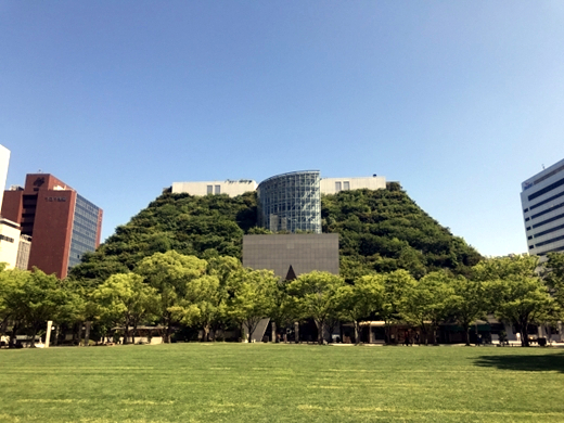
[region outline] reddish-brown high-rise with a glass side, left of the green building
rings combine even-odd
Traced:
[[[27,175],[24,188],[4,191],[2,216],[33,239],[29,269],[65,278],[100,245],[102,209],[49,174]]]

